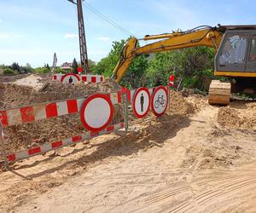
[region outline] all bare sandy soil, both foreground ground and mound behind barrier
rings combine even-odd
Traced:
[[[63,84],[37,75],[1,85],[3,109],[120,89],[111,79]],[[218,107],[207,96],[186,96],[171,91],[170,112],[150,114],[126,135],[102,135],[2,170],[0,211],[255,212],[256,103]],[[4,135],[8,152],[16,152],[81,131],[73,115]]]

